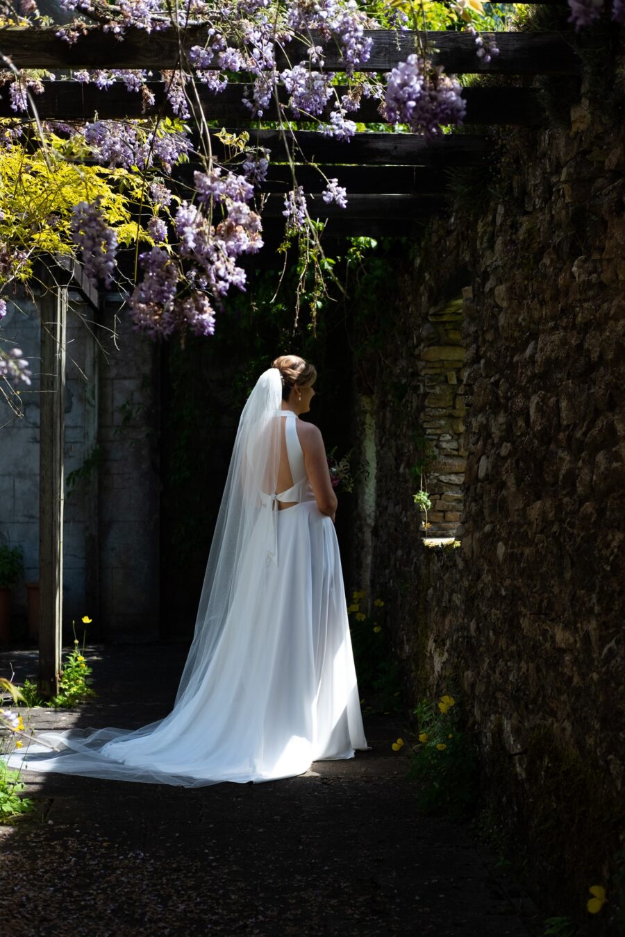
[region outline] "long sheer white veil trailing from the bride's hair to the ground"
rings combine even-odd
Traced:
[[[275,559],[272,509],[280,455],[275,413],[281,398],[280,372],[269,368],[260,375],[241,414],[193,642],[171,713],[136,730],[108,727],[37,733],[27,748],[11,754],[9,766],[186,787],[224,780],[202,776],[197,766],[197,752],[206,737],[206,724],[202,729],[201,722],[206,693],[210,691],[206,681],[220,644],[226,647],[228,666],[236,668],[244,662],[253,666],[248,645],[255,603],[262,598],[266,563]],[[252,542],[257,549],[250,558],[248,545]],[[259,543],[263,551],[266,548],[265,556],[259,556]],[[219,663],[221,666],[221,660]],[[226,675],[222,677],[220,686]],[[236,706],[236,700],[228,705]]]

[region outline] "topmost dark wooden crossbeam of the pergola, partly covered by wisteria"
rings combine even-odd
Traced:
[[[413,32],[367,30],[373,38],[373,50],[362,71],[388,71],[397,62],[405,60],[415,51],[418,38]],[[578,74],[579,58],[572,48],[571,38],[564,33],[525,32],[496,33],[500,54],[484,63],[475,52],[475,40],[468,33],[422,32],[419,37],[434,53],[435,65],[443,65],[451,73],[499,73],[507,75]],[[573,35],[573,34],[572,34]],[[311,34],[316,44],[324,49],[325,67],[341,71],[341,60],[334,39],[327,40]],[[192,46],[203,46],[206,26],[189,26],[178,33],[167,28],[146,33],[129,29],[120,42],[112,33],[89,29],[78,42],[69,45],[56,37],[55,29],[27,29],[9,27],[0,31],[0,52],[10,56],[20,68],[161,68],[177,67],[181,49],[186,54]],[[285,52],[277,55],[278,67],[306,59],[308,46],[304,42],[289,43]]]

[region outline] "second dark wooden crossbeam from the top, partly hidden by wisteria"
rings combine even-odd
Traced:
[[[1,37],[1,34],[0,34]],[[148,82],[147,87],[154,95],[154,105],[143,108],[141,95],[126,91],[123,82],[114,82],[107,89],[99,89],[95,84],[59,81],[42,82],[44,93],[35,98],[37,113],[42,119],[92,120],[94,115],[100,120],[113,118],[140,119],[153,114],[172,116],[171,106],[165,94],[165,82]],[[198,97],[207,120],[218,120],[231,126],[252,126],[249,111],[243,104],[246,88],[241,82],[231,82],[220,94],[213,94],[205,85],[197,84]],[[336,93],[340,96],[348,91],[347,85],[338,85]],[[288,95],[280,89],[281,103],[288,104]],[[195,98],[195,94],[193,95]],[[543,109],[535,88],[465,88],[463,97],[467,101],[465,124],[538,126],[543,123]],[[327,118],[332,102],[327,109]],[[289,120],[297,120],[290,111],[284,111]],[[277,120],[280,115],[275,101],[264,113],[268,121]],[[0,117],[15,117],[7,97],[0,99]],[[308,119],[309,118],[304,118]],[[363,98],[357,111],[350,113],[350,119],[360,123],[380,123],[379,100]]]

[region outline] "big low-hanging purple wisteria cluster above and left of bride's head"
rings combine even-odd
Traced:
[[[195,172],[194,182],[196,201],[183,201],[172,216],[177,257],[163,246],[142,254],[143,276],[129,300],[136,326],[153,337],[187,328],[196,335],[213,335],[223,297],[232,287],[246,289],[238,258],[262,246],[260,216],[247,204],[254,186],[245,175],[214,166]],[[161,204],[166,201],[164,188],[157,182],[152,186],[151,194]],[[159,222],[153,218],[149,231],[164,242],[166,231]]]

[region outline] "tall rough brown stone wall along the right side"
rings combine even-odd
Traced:
[[[617,932],[625,905],[624,61],[603,89],[583,80],[570,126],[506,135],[499,198],[476,190],[470,214],[431,226],[398,275],[373,406],[370,594],[389,606],[409,702],[456,695],[488,815],[541,906],[583,933]],[[461,546],[428,550],[409,471],[429,416],[424,340],[459,294]],[[597,884],[609,903],[589,921]]]

